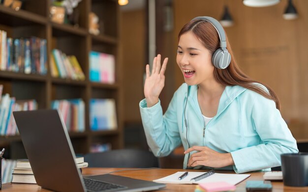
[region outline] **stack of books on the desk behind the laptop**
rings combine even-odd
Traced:
[[[88,163],[84,162],[84,157],[77,157],[75,159],[77,168],[88,167]],[[30,183],[36,184],[33,171],[28,159],[17,160],[16,166],[13,170],[12,183]]]

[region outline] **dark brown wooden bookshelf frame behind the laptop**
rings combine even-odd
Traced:
[[[79,2],[78,26],[57,24],[50,21],[49,7],[51,0],[25,0],[20,10],[0,4],[0,30],[7,32],[7,37],[22,38],[36,36],[47,40],[47,59],[51,51],[59,49],[67,55],[75,55],[86,76],[85,81],[54,78],[51,76],[50,63],[46,75],[0,71],[0,84],[3,94],[9,93],[16,100],[35,99],[38,109],[51,109],[53,100],[81,98],[85,102],[86,130],[81,133],[69,133],[75,153],[90,152],[94,143],[110,143],[112,149],[123,148],[123,123],[121,103],[121,59],[119,58],[119,5],[116,0],[82,0]],[[100,22],[100,34],[89,33],[88,15],[94,12]],[[102,25],[103,24],[103,25]],[[91,82],[89,77],[89,53],[91,51],[115,56],[116,82],[113,84]],[[116,130],[91,131],[91,99],[113,98],[116,101]],[[0,147],[8,148],[6,158],[26,158],[21,138],[0,136]]]

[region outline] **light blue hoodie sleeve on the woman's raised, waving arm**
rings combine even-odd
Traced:
[[[147,142],[156,157],[169,155],[182,143],[177,124],[176,103],[174,94],[164,115],[160,101],[151,108],[147,107],[146,99],[139,103]]]

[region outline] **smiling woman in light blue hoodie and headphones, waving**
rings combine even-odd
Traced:
[[[148,144],[157,157],[183,144],[184,168],[243,173],[280,166],[280,154],[298,152],[296,140],[281,117],[275,92],[239,69],[224,36],[210,17],[195,18],[181,29],[177,63],[185,83],[164,115],[158,96],[168,58],[160,65],[157,55],[152,74],[146,66],[140,111]],[[221,66],[215,62],[217,49],[227,54],[224,58],[231,56]]]

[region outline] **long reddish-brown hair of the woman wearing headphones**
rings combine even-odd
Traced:
[[[216,49],[220,47],[218,32],[211,23],[204,20],[190,21],[185,24],[185,26],[181,29],[178,39],[180,40],[181,35],[188,31],[192,31],[196,35],[196,37],[203,43],[203,45],[212,53],[212,55],[214,54]],[[225,86],[240,85],[247,89],[253,90],[260,95],[275,101],[276,108],[280,110],[280,102],[273,89],[271,89],[264,83],[250,79],[245,73],[243,73],[243,71],[239,68],[234,59],[234,55],[230,47],[227,35],[226,41],[228,52],[231,54],[231,63],[226,69],[218,69],[215,67],[214,77],[216,81]],[[264,90],[264,88],[258,86],[255,83],[260,83],[266,86],[266,88],[269,90],[269,93]]]

